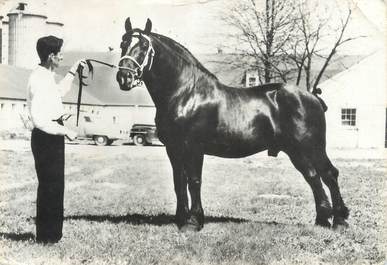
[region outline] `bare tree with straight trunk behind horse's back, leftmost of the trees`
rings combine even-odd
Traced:
[[[229,35],[239,41],[236,52],[251,59],[250,66],[257,69],[261,83],[275,79],[286,82],[292,72],[279,59],[294,32],[296,9],[292,3],[265,0],[264,6],[259,6],[257,0],[242,0],[223,14],[223,20],[238,31]]]

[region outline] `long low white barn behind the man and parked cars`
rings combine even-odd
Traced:
[[[27,82],[31,70],[0,64],[0,131],[28,127],[29,120],[26,102]],[[58,79],[63,78],[60,75]],[[99,116],[106,124],[116,124],[130,129],[134,123],[154,123],[155,107],[143,98],[143,88],[128,93],[128,104],[106,102],[98,99],[92,92],[93,86],[85,87],[82,94],[81,111]],[[75,114],[77,109],[78,86],[73,83],[71,91],[63,98],[66,113]],[[137,98],[135,98],[137,96]]]

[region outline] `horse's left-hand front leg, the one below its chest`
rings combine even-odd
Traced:
[[[173,169],[173,182],[176,193],[176,219],[177,226],[182,228],[187,224],[189,217],[188,197],[187,197],[187,175],[183,167],[183,152],[176,146],[166,146],[169,160]]]

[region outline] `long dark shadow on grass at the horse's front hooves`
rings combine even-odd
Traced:
[[[175,216],[168,214],[145,215],[145,214],[127,214],[121,216],[113,215],[71,215],[66,216],[65,220],[86,220],[93,222],[111,222],[111,223],[129,223],[133,225],[150,224],[150,225],[169,225],[175,223]],[[205,223],[245,223],[246,219],[233,217],[205,217]]]

